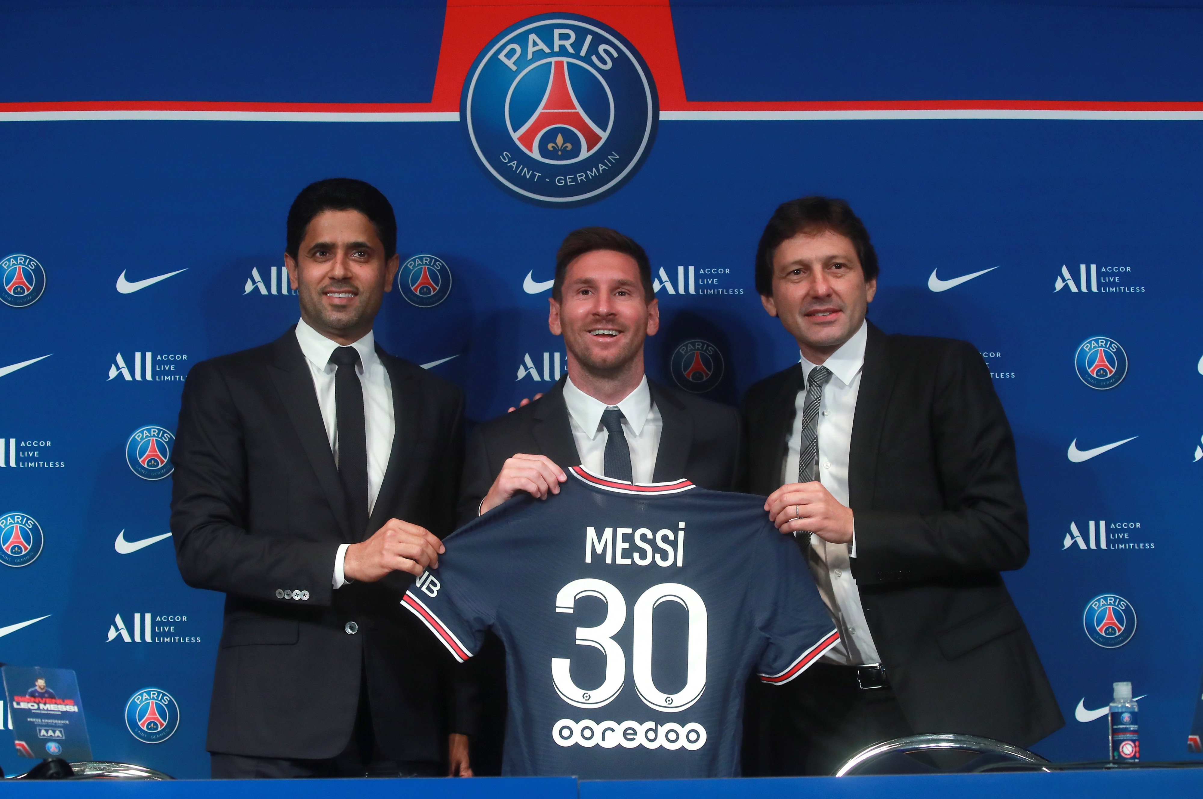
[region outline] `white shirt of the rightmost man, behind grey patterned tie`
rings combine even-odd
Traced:
[[[845,507],[848,505],[848,451],[852,446],[852,421],[857,413],[857,395],[860,392],[860,374],[865,366],[865,341],[869,325],[861,322],[852,338],[823,362],[831,371],[831,379],[823,386],[819,404],[819,483]],[[810,381],[811,363],[801,357],[802,374]],[[801,455],[802,408],[806,390],[798,392],[794,401],[794,428],[789,433],[789,449],[782,467],[786,483],[798,483],[798,458]],[[852,578],[849,557],[857,554],[857,539],[848,544],[829,544],[818,535],[811,535],[813,557],[807,558],[819,596],[840,628],[840,643],[823,656],[824,661],[842,665],[879,663],[877,646],[865,622],[865,610],[860,604],[860,591]]]

